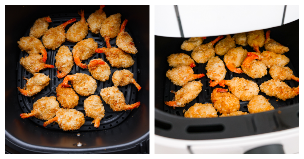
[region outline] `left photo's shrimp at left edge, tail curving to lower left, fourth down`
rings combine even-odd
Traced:
[[[43,90],[44,87],[49,85],[51,79],[45,74],[35,73],[32,78],[26,80],[26,87],[24,87],[23,89],[20,89],[20,87],[18,87],[18,90],[22,95],[31,97],[39,93],[41,90]]]

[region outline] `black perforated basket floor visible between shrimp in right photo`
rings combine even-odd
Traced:
[[[267,30],[264,30],[265,33],[266,33],[266,31]],[[232,37],[233,37],[233,35],[234,34],[231,34]],[[216,37],[217,36],[207,37],[207,39],[204,40],[203,44],[209,43],[210,41],[216,39]],[[226,36],[224,36],[224,38],[226,38]],[[214,45],[214,47],[216,46],[216,44]],[[237,45],[236,47],[240,47],[240,45]],[[243,49],[246,49],[248,52],[255,52],[249,45],[243,47]],[[264,47],[260,48],[261,52],[263,52],[263,50],[265,50]],[[292,52],[292,50],[290,52]],[[288,57],[288,53],[290,53],[290,52],[287,52],[284,55]],[[178,52],[176,52],[176,53],[185,53],[185,54],[188,54],[191,57],[192,51],[185,51],[185,50],[179,49]],[[174,54],[174,53],[172,53],[172,54]],[[218,55],[215,55],[215,56],[218,56]],[[223,58],[224,58],[224,56],[218,56],[218,57],[221,60],[223,60]],[[288,57],[288,58],[291,58],[291,57]],[[206,75],[206,73],[207,73],[207,70],[206,70],[207,63],[208,62],[206,62],[204,64],[198,64],[198,63],[195,62],[196,66],[193,67],[194,74],[201,74],[201,73],[205,74],[204,77],[195,80],[195,81],[201,81],[202,82],[202,84],[203,84],[202,92],[199,93],[199,95],[196,97],[196,99],[194,99],[191,102],[189,102],[188,104],[186,104],[185,107],[181,107],[181,108],[176,107],[174,109],[173,107],[170,107],[170,106],[164,104],[164,111],[165,112],[168,112],[170,114],[177,115],[177,116],[184,116],[183,110],[185,109],[187,111],[195,103],[202,103],[202,104],[212,103],[211,102],[211,93],[212,93],[213,89],[223,88],[223,87],[221,87],[219,85],[217,85],[215,87],[210,87],[209,86],[209,80],[210,79]],[[292,71],[293,71],[293,73],[296,77],[299,77],[296,74],[296,71],[295,71],[294,67],[292,66],[291,62],[289,62],[286,66],[289,67],[290,69],[292,69]],[[237,73],[231,72],[226,67],[226,65],[225,65],[225,68],[226,68],[226,71],[227,71],[226,76],[225,76],[225,80],[230,80],[233,77],[240,77],[240,78],[245,78],[245,79],[250,80],[250,81],[254,81],[255,83],[257,83],[258,86],[260,86],[265,81],[268,81],[268,80],[272,79],[270,74],[269,74],[269,69],[267,69],[268,73],[264,77],[253,79],[253,78],[249,77],[247,74],[244,74],[244,73],[237,74]],[[172,67],[168,67],[167,70],[169,70],[169,69],[172,69]],[[166,75],[164,74],[164,76],[166,76]],[[293,80],[285,80],[283,82],[285,82],[290,87],[297,87],[299,85],[299,82],[296,82],[296,81],[293,81]],[[164,101],[171,101],[173,99],[174,94],[170,92],[171,90],[174,90],[175,92],[177,92],[178,90],[180,90],[182,88],[181,86],[174,85],[171,82],[171,80],[169,80],[169,78],[167,78],[167,77],[166,77],[164,87],[165,87]],[[224,88],[228,89],[228,86],[225,86]],[[269,99],[269,102],[271,103],[271,105],[275,109],[279,109],[280,107],[284,107],[284,106],[287,106],[287,105],[292,105],[294,103],[299,103],[299,95],[296,96],[293,99],[287,99],[286,101],[282,101],[281,99],[277,99],[275,97],[270,97],[270,96],[266,95],[265,93],[261,92],[261,90],[260,90],[258,95],[263,95],[266,99]],[[240,111],[249,113],[248,109],[247,109],[248,102],[249,101],[240,101]],[[221,115],[219,112],[217,112],[217,114]]]

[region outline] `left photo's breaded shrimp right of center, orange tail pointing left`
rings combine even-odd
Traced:
[[[105,53],[107,60],[109,60],[112,67],[130,67],[134,64],[134,60],[130,54],[125,53],[123,50],[112,47],[112,48],[99,48],[95,50],[96,53]]]

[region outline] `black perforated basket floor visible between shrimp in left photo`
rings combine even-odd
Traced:
[[[85,14],[85,19],[87,20],[89,15],[91,13],[86,13]],[[76,22],[78,22],[81,17],[77,14],[77,13],[60,13],[60,14],[54,14],[54,15],[49,15],[50,18],[52,19],[52,22],[49,23],[49,28],[51,27],[56,27],[72,18],[76,18]],[[124,19],[122,19],[123,21]],[[34,22],[33,22],[34,23]],[[72,26],[75,22],[69,24],[66,26],[65,30],[67,31],[70,26]],[[29,29],[32,26],[29,26]],[[29,29],[26,31],[24,36],[29,36]],[[134,39],[134,37],[132,36],[132,34],[129,32],[128,27],[126,26],[125,30],[130,34],[130,36]],[[21,38],[21,37],[20,37]],[[104,38],[100,35],[100,34],[92,34],[92,32],[89,30],[88,35],[85,37],[85,39],[87,38],[93,38],[95,42],[98,43],[98,48],[101,47],[106,47],[106,43]],[[42,37],[39,38],[39,40],[42,41]],[[17,44],[17,42],[16,42]],[[110,40],[110,44],[112,47],[117,47],[116,46],[116,38],[111,39]],[[76,45],[76,43],[71,43],[69,41],[64,42],[62,45],[68,46],[72,52],[73,47]],[[61,45],[61,46],[62,46]],[[16,47],[18,47],[16,45]],[[47,61],[46,64],[52,64],[55,66],[55,56],[57,51],[59,50],[60,47],[58,47],[56,50],[50,50],[50,49],[46,49],[47,50]],[[27,54],[25,51],[20,51],[20,56],[19,56],[19,60],[21,59],[21,57],[25,57],[28,56],[29,54]],[[133,60],[135,60],[135,63],[133,64],[133,66],[128,67],[128,68],[116,68],[116,67],[112,67],[111,64],[109,63],[109,61],[105,58],[105,54],[94,54],[92,57],[90,57],[87,60],[83,60],[82,63],[86,63],[88,64],[90,60],[92,59],[96,59],[96,58],[102,58],[109,66],[110,66],[110,70],[111,70],[111,74],[110,74],[110,78],[109,80],[102,82],[99,80],[96,80],[97,82],[97,89],[94,93],[94,95],[99,95],[100,96],[100,90],[102,88],[106,88],[106,87],[111,87],[113,86],[113,82],[112,82],[112,75],[116,70],[123,70],[123,69],[127,69],[129,71],[131,71],[134,74],[134,79],[137,81],[137,72],[139,72],[139,70],[137,69],[137,60],[136,60],[136,54],[130,54],[133,58]],[[39,92],[36,95],[33,95],[32,97],[26,97],[24,95],[22,95],[16,87],[17,90],[17,94],[18,94],[18,101],[20,103],[20,107],[23,110],[24,113],[29,113],[31,112],[31,110],[33,109],[33,103],[36,102],[38,99],[42,98],[42,97],[50,97],[50,96],[55,96],[56,97],[56,88],[58,86],[58,84],[62,83],[64,78],[57,78],[56,73],[57,68],[47,68],[44,70],[41,70],[39,73],[43,73],[46,74],[50,77],[50,84],[47,85],[41,92]],[[84,74],[88,74],[90,76],[92,76],[90,74],[90,72],[88,71],[88,69],[82,69],[80,67],[78,67],[75,63],[74,66],[71,70],[71,72],[69,74],[75,74],[75,73],[84,73]],[[26,80],[24,80],[22,77],[26,77],[26,78],[31,78],[33,77],[33,74],[30,74],[28,71],[26,71],[24,69],[24,67],[22,67],[22,65],[19,64],[19,62],[17,63],[17,86],[19,86],[20,88],[23,88],[24,85],[26,85]],[[119,90],[121,92],[123,92],[123,95],[126,99],[126,104],[133,104],[136,101],[136,96],[137,96],[137,88],[135,87],[135,85],[133,84],[129,84],[123,87],[118,87]],[[78,105],[76,107],[74,107],[74,109],[82,112],[85,116],[85,110],[83,107],[83,102],[86,98],[86,96],[81,96],[79,94],[77,94],[79,96],[79,102]],[[101,98],[102,99],[102,98]],[[93,118],[90,118],[88,116],[85,117],[85,124],[83,126],[80,127],[80,129],[75,130],[75,131],[90,131],[90,130],[105,130],[105,129],[109,129],[112,127],[117,126],[118,124],[122,123],[124,121],[124,119],[126,119],[126,117],[130,114],[130,111],[120,111],[120,112],[113,112],[112,109],[110,108],[110,106],[108,104],[106,104],[103,100],[102,100],[102,104],[105,108],[105,116],[104,118],[101,120],[100,126],[98,128],[94,127],[94,124],[91,124]],[[61,106],[60,106],[61,107]],[[30,120],[32,120],[34,123],[36,123],[39,126],[43,126],[43,122],[45,122],[45,120],[41,120],[41,119],[37,119],[35,117],[30,117]],[[24,119],[24,120],[28,120],[28,119]],[[60,129],[59,125],[57,123],[55,124],[49,124],[48,126],[45,127],[46,129]],[[60,129],[61,130],[61,129]]]

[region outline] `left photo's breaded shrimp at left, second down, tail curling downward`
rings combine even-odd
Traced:
[[[43,62],[47,60],[47,51],[41,41],[36,37],[22,37],[17,43],[19,44],[18,47],[21,51],[25,51],[29,54],[41,53],[43,55]]]

